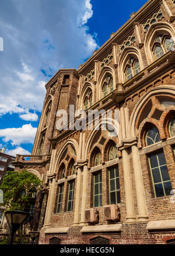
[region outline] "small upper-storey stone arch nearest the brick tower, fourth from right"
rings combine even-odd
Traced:
[[[79,98],[79,109],[84,109],[84,101],[85,97],[88,94],[89,91],[92,91],[92,105],[95,104],[95,87],[92,83],[90,82],[85,82],[83,85],[83,88],[80,93],[80,98]]]

